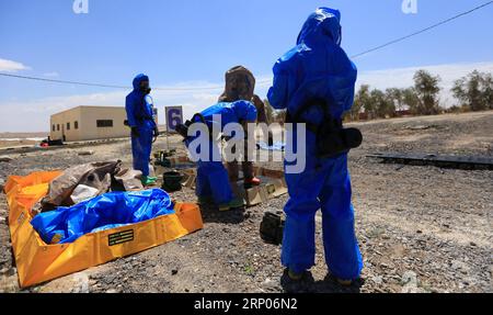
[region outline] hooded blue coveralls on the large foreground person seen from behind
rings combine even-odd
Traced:
[[[268,91],[268,100],[275,109],[296,113],[310,99],[325,100],[334,119],[341,119],[351,109],[357,70],[340,46],[340,11],[319,8],[305,22],[297,46],[274,66],[274,85]],[[301,117],[320,124],[323,116],[321,109],[310,108]],[[296,133],[294,144],[296,150]],[[314,216],[321,209],[325,262],[330,272],[340,279],[357,279],[363,261],[354,232],[347,154],[318,158],[316,135],[310,131],[307,131],[306,147],[306,169],[301,173],[286,172],[289,200],[284,209],[282,262],[296,273],[314,266]]]

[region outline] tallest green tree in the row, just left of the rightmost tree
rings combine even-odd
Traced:
[[[417,70],[414,74],[414,90],[419,99],[416,114],[434,115],[440,112],[438,100],[440,80],[439,76],[433,76],[426,70]]]

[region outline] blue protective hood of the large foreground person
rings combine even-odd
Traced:
[[[305,22],[297,45],[326,41],[341,45],[341,12],[330,8],[318,8]]]

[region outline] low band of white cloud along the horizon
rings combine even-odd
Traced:
[[[440,86],[444,88],[442,101],[451,104],[448,90],[454,80],[466,76],[473,69],[493,72],[493,63],[456,64],[426,66],[415,68],[387,69],[378,71],[362,71],[357,85],[368,83],[374,88],[386,89],[391,87],[405,88],[413,83],[413,75],[417,69],[426,69],[442,77]],[[265,98],[271,86],[271,76],[256,78],[256,93]],[[180,82],[170,86],[156,86],[152,98],[159,110],[159,121],[164,123],[164,106],[181,105],[184,117],[190,119],[194,113],[214,104],[222,92],[223,82]],[[211,89],[203,89],[208,87]],[[167,89],[167,90],[158,90]],[[200,88],[199,90],[183,90]],[[50,97],[38,100],[21,101],[11,99],[0,103],[0,132],[39,132],[48,131],[49,116],[62,110],[79,105],[124,106],[125,97],[129,91],[117,90],[92,94],[76,94],[69,97]]]

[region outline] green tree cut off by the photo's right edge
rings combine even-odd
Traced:
[[[491,74],[474,70],[455,81],[451,92],[462,106],[467,106],[471,111],[493,109],[493,77]]]

